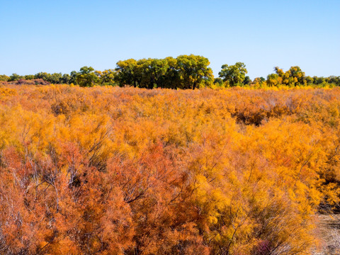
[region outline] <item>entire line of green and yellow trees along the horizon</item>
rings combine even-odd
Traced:
[[[78,84],[79,86],[134,86],[154,89],[199,89],[203,87],[220,88],[230,86],[340,86],[340,77],[310,77],[298,66],[286,72],[280,67],[265,78],[251,80],[246,65],[237,62],[223,64],[219,77],[214,77],[209,60],[199,55],[181,55],[164,59],[148,58],[142,60],[120,60],[115,69],[104,71],[93,67],[81,67],[79,72],[70,74],[39,72],[21,76],[0,75],[0,81],[15,84]]]

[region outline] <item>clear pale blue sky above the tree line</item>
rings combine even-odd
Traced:
[[[298,65],[340,75],[339,0],[0,0],[0,74],[115,68],[118,60],[203,55],[215,76]]]

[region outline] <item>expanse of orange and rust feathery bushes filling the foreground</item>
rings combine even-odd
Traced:
[[[310,254],[340,89],[0,87],[0,254]]]

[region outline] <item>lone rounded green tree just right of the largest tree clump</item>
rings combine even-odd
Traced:
[[[218,75],[223,81],[227,81],[229,86],[237,86],[243,85],[246,73],[248,73],[246,65],[242,62],[237,62],[230,66],[228,64],[223,64]]]

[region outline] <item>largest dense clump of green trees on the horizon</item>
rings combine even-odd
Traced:
[[[202,56],[181,55],[176,59],[125,60],[117,63],[115,81],[119,86],[153,89],[196,89],[213,81],[209,60]]]

